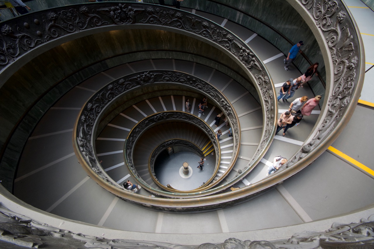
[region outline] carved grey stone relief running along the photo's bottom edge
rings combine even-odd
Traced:
[[[82,248],[144,248],[144,249],[168,249],[168,248],[204,248],[204,249],[310,249],[310,248],[340,248],[340,249],[372,249],[374,245],[374,215],[362,218],[359,222],[339,223],[334,222],[326,231],[300,231],[289,239],[288,236],[275,242],[267,240],[252,241],[229,238],[221,243],[203,243],[201,245],[178,245],[175,243],[155,242],[146,240],[107,239],[80,231],[69,231],[47,224],[40,224],[34,219],[13,212],[8,209],[0,209],[0,239],[13,245],[27,248],[59,248],[64,243],[74,243]],[[355,217],[356,219],[356,217]],[[67,222],[69,223],[69,222]],[[58,224],[58,223],[57,223]],[[72,227],[77,230],[76,227]],[[92,232],[92,231],[91,231]],[[101,234],[100,234],[101,235]],[[103,234],[104,235],[104,234]],[[170,236],[170,234],[167,234]],[[160,237],[165,237],[161,236]],[[270,237],[270,236],[267,236]],[[159,239],[162,240],[162,239]],[[68,241],[68,242],[67,242]],[[194,242],[191,241],[190,244]]]

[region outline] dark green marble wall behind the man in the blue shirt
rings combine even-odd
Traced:
[[[271,4],[269,0],[184,1],[183,6],[212,14],[219,13],[220,16],[254,31],[276,46],[285,55],[288,54],[293,44],[303,40],[304,46],[301,49],[312,63],[319,62],[319,73],[322,80],[326,81],[325,64],[318,42],[303,17],[287,1],[272,0]],[[258,19],[261,21],[258,21]],[[284,38],[279,34],[284,36]],[[301,74],[310,66],[308,61],[301,55],[297,56],[294,64],[298,67]],[[283,65],[279,65],[279,67],[283,67]],[[273,79],[274,82],[281,82],[282,80],[284,79]],[[309,83],[315,95],[324,96],[325,87],[318,77],[313,77]]]

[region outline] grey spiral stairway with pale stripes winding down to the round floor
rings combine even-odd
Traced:
[[[101,4],[103,3],[97,5],[104,6]],[[295,9],[300,8],[296,5]],[[141,6],[134,5],[133,9]],[[222,6],[227,7],[224,4]],[[267,89],[266,93],[275,95],[285,80],[300,75],[295,67],[289,71],[283,69],[282,45],[276,47],[276,42],[269,42],[252,30],[234,20],[227,20],[218,13],[213,15],[209,11],[199,11],[204,10],[203,7],[195,6],[194,9],[186,6],[182,9],[224,26],[245,41],[255,56],[262,61],[261,65],[266,68],[272,79],[270,83],[273,88]],[[127,34],[111,27],[109,29],[111,31],[104,30],[96,37],[93,34],[95,42],[100,37],[112,36],[119,39],[123,34]],[[170,31],[166,28],[165,30]],[[149,32],[156,34],[153,31]],[[160,37],[165,39],[163,42],[173,38],[163,35]],[[83,39],[82,44],[88,42],[79,33],[74,38]],[[264,92],[255,85],[257,82],[248,83],[251,82],[251,76],[243,73],[245,69],[233,67],[232,62],[206,58],[206,55],[188,55],[187,52],[175,52],[173,49],[170,50],[174,53],[166,50],[153,52],[154,48],[146,43],[151,41],[137,42],[143,43],[146,49],[140,50],[136,56],[129,52],[131,56],[119,54],[115,59],[105,58],[81,68],[81,72],[74,72],[80,76],[73,73],[65,75],[62,72],[63,78],[72,76],[72,81],[75,81],[70,83],[69,90],[64,92],[64,89],[58,88],[59,84],[52,84],[48,90],[58,92],[55,96],[60,95],[61,98],[52,99],[50,102],[53,104],[48,107],[40,104],[43,99],[33,103],[32,111],[40,107],[40,112],[43,113],[43,108],[47,109],[40,120],[31,120],[31,116],[27,114],[26,118],[22,117],[26,121],[30,118],[30,123],[34,122],[36,125],[29,129],[30,136],[25,144],[19,145],[21,155],[15,170],[14,185],[10,190],[16,197],[13,203],[24,203],[23,210],[29,210],[30,215],[34,214],[37,217],[42,214],[43,217],[50,217],[45,218],[48,224],[57,222],[52,219],[65,220],[67,224],[77,225],[79,229],[83,229],[82,231],[93,229],[90,233],[95,236],[103,233],[111,238],[168,241],[188,245],[220,242],[223,237],[252,239],[248,238],[249,234],[254,236],[254,239],[278,239],[285,237],[285,234],[291,236],[293,232],[303,230],[300,225],[324,227],[333,216],[345,217],[347,213],[358,213],[373,208],[373,193],[365,191],[373,189],[373,175],[352,167],[350,162],[323,148],[329,145],[349,148],[349,151],[357,152],[361,156],[361,162],[368,162],[364,164],[371,167],[368,157],[370,152],[368,149],[361,149],[359,144],[367,141],[366,135],[372,134],[372,131],[370,127],[356,121],[363,116],[372,119],[371,108],[353,104],[350,108],[355,109],[355,112],[347,111],[344,114],[347,117],[353,115],[351,120],[348,122],[342,119],[334,125],[336,130],[341,130],[346,125],[343,133],[339,135],[338,132],[327,132],[334,138],[329,138],[327,145],[322,146],[321,142],[318,155],[308,158],[303,149],[306,145],[312,148],[315,146],[316,142],[310,142],[313,141],[316,132],[323,130],[320,125],[324,123],[323,118],[329,115],[326,112],[324,114],[324,110],[317,107],[310,116],[304,118],[300,126],[290,129],[285,137],[281,133],[274,135],[276,118],[272,120],[271,125],[264,125],[269,122],[267,118],[272,113],[264,112],[262,106],[265,102],[260,94]],[[47,43],[44,46],[48,47]],[[67,42],[59,46],[67,48],[71,45]],[[103,45],[99,47],[105,50]],[[43,49],[43,53],[53,54],[49,49]],[[87,49],[89,50],[89,46]],[[43,53],[38,51],[34,56],[43,56]],[[77,54],[80,55],[80,52]],[[227,59],[224,55],[221,56]],[[325,58],[324,56],[326,55],[323,54],[321,58]],[[71,63],[77,64],[76,68],[79,69],[79,61],[80,58],[77,62]],[[303,67],[304,62],[295,63]],[[30,66],[27,65],[25,68]],[[327,72],[331,71],[330,68],[326,68]],[[324,69],[321,71],[324,73]],[[197,105],[205,92],[174,85],[176,82],[144,85],[139,87],[138,92],[124,94],[117,100],[113,99],[114,104],[102,111],[101,116],[95,120],[95,126],[92,126],[95,158],[86,160],[86,151],[82,150],[79,139],[77,140],[80,133],[77,127],[82,125],[82,115],[88,105],[93,103],[92,99],[108,91],[108,87],[118,84],[120,79],[165,72],[177,72],[183,74],[184,79],[209,84],[227,100],[232,112],[228,113],[220,102],[209,98],[205,115],[198,113]],[[46,71],[45,73],[49,74]],[[297,90],[295,97],[307,95],[312,98],[316,93],[320,94],[321,85],[330,81],[328,73],[325,74],[327,75],[321,76],[319,80],[313,79],[315,81],[310,85]],[[358,89],[361,90],[359,84]],[[326,90],[323,91],[327,93],[333,88],[333,85],[327,84]],[[22,98],[22,94],[24,93],[20,93],[19,98]],[[320,104],[322,109],[328,103],[326,96],[323,104],[322,101]],[[184,105],[187,98],[191,102],[190,113],[186,112]],[[358,97],[351,97],[355,98]],[[288,108],[289,103],[273,102],[276,107],[269,110],[272,109],[278,116]],[[167,112],[181,113],[182,117],[194,116],[202,120],[207,128],[202,130],[184,122],[185,120],[171,120],[137,133],[137,126],[142,120]],[[229,127],[225,126],[222,120],[218,127],[214,125],[214,118],[220,113],[230,115],[230,126],[237,128],[234,130],[234,137],[227,136]],[[340,114],[336,118],[338,117]],[[269,126],[271,131],[266,133]],[[316,131],[318,128],[320,130]],[[357,133],[358,128],[362,132]],[[220,141],[209,138],[209,134],[215,134],[219,129],[223,132]],[[319,138],[322,137],[322,133],[323,131],[319,133]],[[131,134],[137,139],[134,146],[126,144]],[[267,145],[263,149],[261,144],[264,142],[264,136],[268,134],[270,138],[265,140]],[[215,166],[205,166],[205,169],[209,167],[209,170],[202,173],[209,180],[202,182],[201,189],[175,191],[160,186],[155,181],[149,166],[150,154],[159,144],[170,139],[184,139],[196,144],[208,160],[216,163]],[[322,138],[320,140],[323,141]],[[351,145],[347,145],[347,141],[357,147],[352,148]],[[217,144],[217,156],[211,154],[212,150],[206,150],[209,143]],[[127,152],[128,148],[132,150],[134,167],[129,163],[129,156],[125,156],[130,155]],[[8,150],[10,149],[13,150],[8,146]],[[79,153],[80,150],[83,151],[82,154]],[[362,155],[361,150],[367,153]],[[301,154],[303,156],[300,156]],[[12,153],[4,151],[2,156],[4,155],[9,157]],[[293,165],[290,163],[289,167],[267,177],[267,167],[278,155],[288,158],[290,162],[292,159]],[[93,163],[97,163],[97,168]],[[194,163],[191,162],[190,165],[193,166]],[[3,167],[4,165],[6,163],[3,163]],[[126,180],[137,182],[142,188],[136,194],[129,193],[122,188]],[[180,179],[182,180],[183,178]],[[356,187],[357,185],[359,187]],[[239,189],[232,191],[231,187]],[[269,233],[279,231],[279,234],[261,234],[261,230],[265,229],[269,229]],[[125,235],[121,233],[123,231]]]

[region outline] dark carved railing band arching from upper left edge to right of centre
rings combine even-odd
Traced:
[[[134,25],[134,28],[149,28],[151,26],[157,27],[157,29],[168,28],[168,31],[184,32],[197,39],[203,39],[206,43],[217,46],[227,53],[236,61],[238,67],[245,70],[248,79],[254,83],[264,107],[262,139],[251,162],[252,166],[256,165],[266,153],[275,132],[275,90],[270,82],[269,74],[246,43],[214,22],[192,13],[152,4],[118,2],[78,4],[30,13],[17,19],[17,22],[6,21],[2,24],[0,39],[6,46],[0,50],[2,54],[0,56],[0,70],[6,69],[7,72],[12,73],[12,70],[16,70],[25,63],[22,59],[24,55],[30,52],[37,55],[39,48],[44,44],[53,46],[52,44],[66,41],[70,35],[74,38],[77,37],[76,34],[83,36],[85,32],[92,34],[105,30],[105,28],[123,28],[128,25]],[[205,94],[214,93],[206,91]],[[220,105],[223,108],[227,106],[230,109],[227,111],[234,112],[227,103],[222,102]],[[230,124],[233,133],[238,135],[239,129],[236,129],[233,123]],[[88,150],[89,146],[84,145],[87,140],[79,139],[81,140],[77,140],[77,142],[81,145],[80,150],[83,147],[84,150]],[[234,153],[237,153],[239,146],[238,144],[237,147],[234,147]],[[92,165],[94,163],[93,154],[84,153],[88,165]],[[101,171],[99,170],[99,172]],[[241,177],[244,177],[244,173]]]

